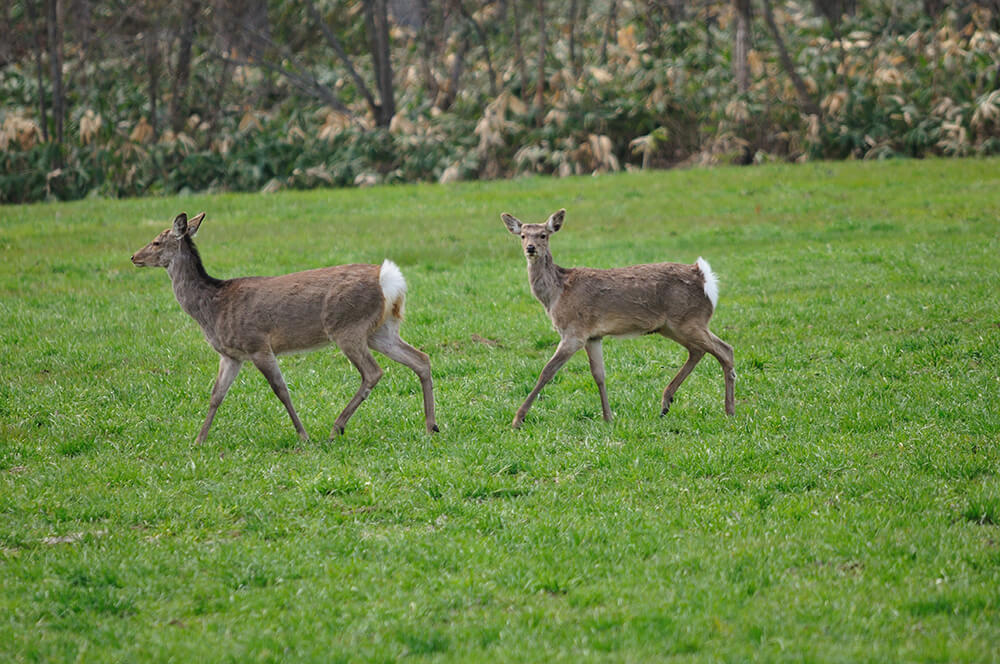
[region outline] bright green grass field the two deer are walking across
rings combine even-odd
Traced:
[[[0,208],[2,661],[1000,661],[1000,162],[909,161]],[[500,222],[565,266],[707,258],[736,350],[558,336]],[[430,354],[282,358],[312,442],[217,368],[166,273],[395,260]]]

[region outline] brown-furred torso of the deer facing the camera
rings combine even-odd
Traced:
[[[696,266],[682,263],[573,268],[550,315],[558,329],[590,337],[670,330],[680,321],[711,317],[704,283]]]

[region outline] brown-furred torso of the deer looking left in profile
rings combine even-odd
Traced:
[[[238,356],[309,350],[340,332],[370,332],[384,308],[378,274],[377,265],[356,264],[232,279],[217,295],[216,339],[209,341]]]

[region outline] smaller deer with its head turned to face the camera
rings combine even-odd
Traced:
[[[549,241],[562,228],[565,217],[566,210],[561,209],[544,223],[525,224],[506,212],[500,215],[507,230],[520,237],[531,292],[559,333],[555,353],[518,408],[511,426],[521,427],[542,388],[581,348],[587,352],[604,419],[610,421],[602,339],[646,334],[673,339],[688,351],[684,366],[663,390],[661,417],[670,410],[677,388],[705,353],[714,355],[722,365],[725,410],[727,415],[733,415],[733,348],[708,329],[719,297],[718,279],[708,261],[699,257],[693,265],[653,263],[610,270],[560,267],[552,259]]]

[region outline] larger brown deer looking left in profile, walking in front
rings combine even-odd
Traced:
[[[427,355],[403,341],[406,281],[396,264],[338,265],[279,277],[215,279],[205,272],[194,245],[205,213],[188,219],[179,214],[163,231],[132,256],[138,267],[165,267],[174,295],[198,321],[205,339],[219,354],[208,415],[198,433],[204,442],[219,404],[244,362],[254,363],[284,404],[299,437],[309,435],[292,407],[275,355],[310,351],[336,343],[361,372],[361,387],[333,425],[330,437],[343,434],[354,411],[382,377],[374,349],[413,369],[420,378],[424,420],[437,431],[431,363]]]

